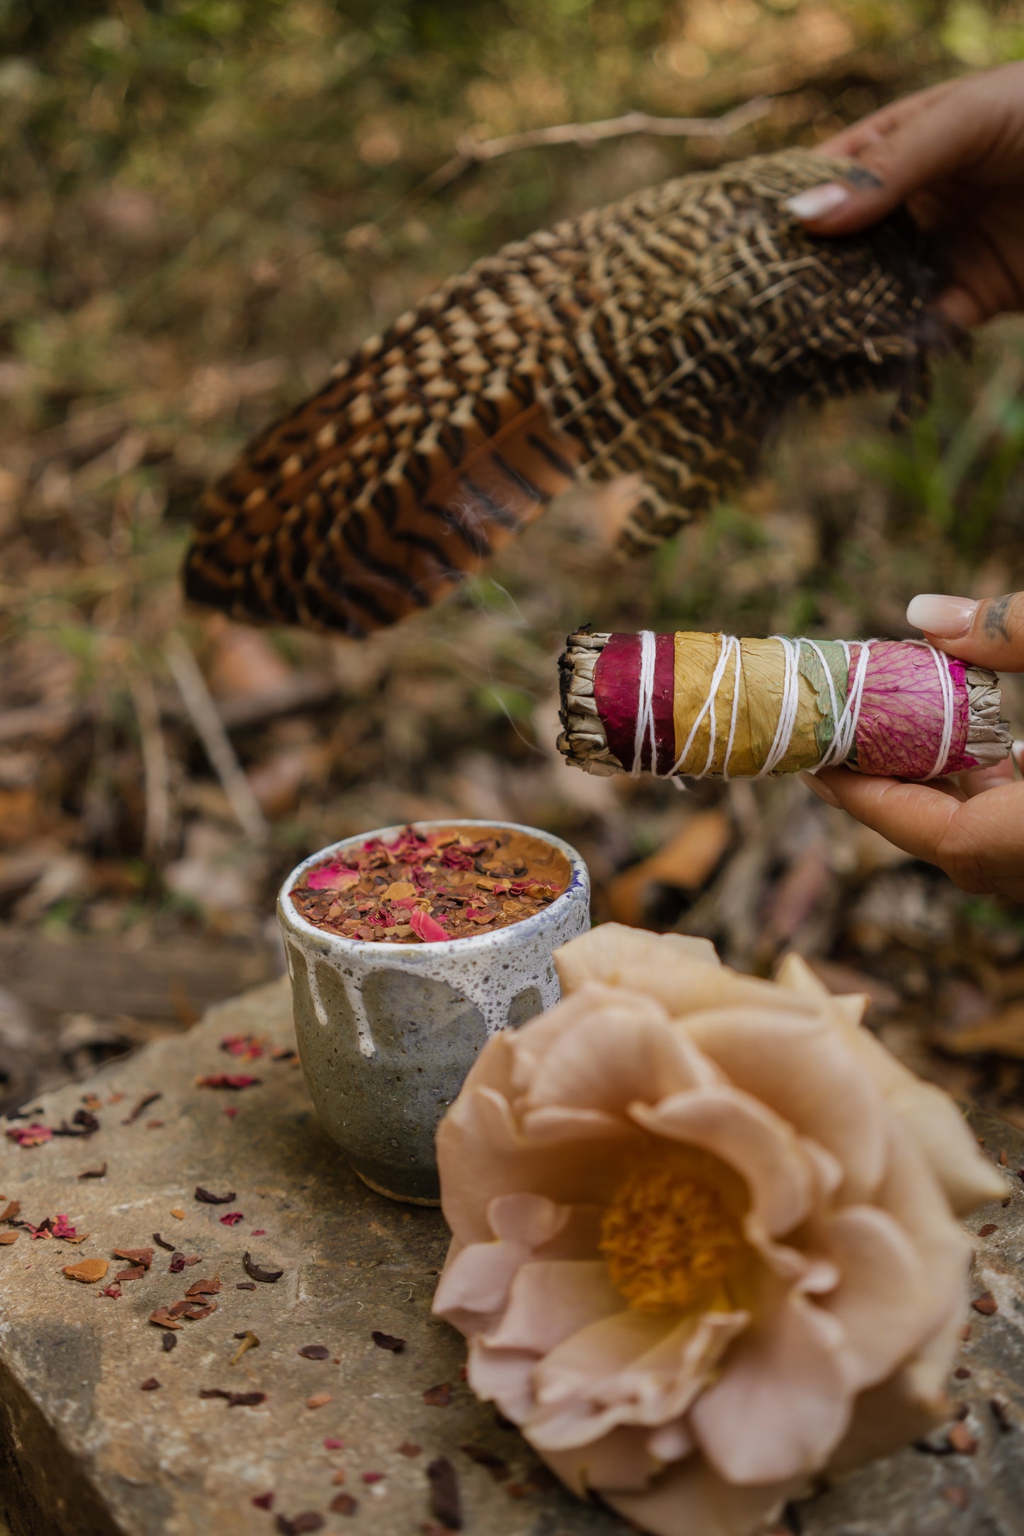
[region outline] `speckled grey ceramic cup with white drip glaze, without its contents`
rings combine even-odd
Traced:
[[[481,1048],[559,1000],[551,952],[590,928],[586,865],[568,843],[514,822],[413,822],[525,833],[570,863],[567,889],[542,912],[473,938],[382,945],[315,928],[289,892],[302,874],[401,826],[321,848],[281,886],[278,919],[292,977],[299,1058],[324,1130],[372,1189],[438,1204],[434,1130]]]

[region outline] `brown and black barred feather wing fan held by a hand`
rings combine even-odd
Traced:
[[[791,402],[892,389],[949,338],[904,215],[823,241],[788,214],[843,161],[680,177],[477,261],[335,369],[203,498],[189,598],[365,634],[422,608],[571,484],[637,473],[648,548],[754,465]]]

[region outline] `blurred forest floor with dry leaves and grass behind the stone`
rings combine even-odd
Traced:
[[[788,422],[763,478],[646,564],[617,567],[576,498],[368,642],[247,630],[178,585],[204,482],[477,255],[1019,57],[1021,0],[0,3],[8,1104],[275,974],[275,891],[309,851],[473,816],[576,843],[599,919],[758,972],[795,946],[915,1066],[1024,1123],[1024,911],[798,782],[677,794],[554,753],[582,621],[901,636],[917,591],[1022,587],[1024,326],[990,326],[904,438],[875,399]],[[729,140],[536,149],[418,194],[465,134],[760,94]],[[210,766],[190,657],[259,816]]]

